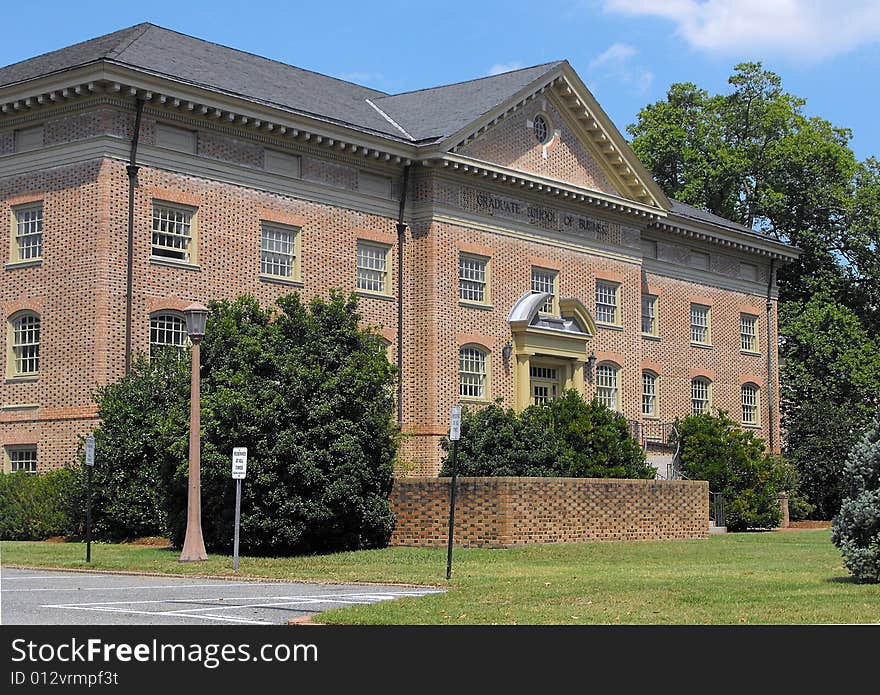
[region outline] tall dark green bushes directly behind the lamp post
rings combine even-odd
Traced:
[[[202,342],[202,528],[231,548],[233,447],[248,448],[241,549],[295,554],[373,547],[393,529],[394,367],[359,328],[353,297],[278,310],[213,302]],[[189,355],[140,360],[98,395],[96,534],[186,529]],[[101,470],[99,474],[99,468]],[[96,486],[97,487],[97,486]]]

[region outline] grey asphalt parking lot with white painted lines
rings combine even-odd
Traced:
[[[0,568],[3,625],[276,625],[430,587],[259,582]]]

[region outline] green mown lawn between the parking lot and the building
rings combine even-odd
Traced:
[[[0,544],[4,565],[232,575],[230,557],[180,564],[171,550],[81,543]],[[387,548],[241,558],[239,576],[447,586],[445,549]],[[849,578],[828,529],[699,541],[456,549],[444,594],[329,611],[358,624],[880,623],[880,585]]]

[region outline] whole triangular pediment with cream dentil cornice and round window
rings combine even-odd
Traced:
[[[543,121],[538,124],[537,119]],[[549,130],[543,141],[544,129]],[[568,63],[447,138],[445,151],[668,210],[670,203]]]

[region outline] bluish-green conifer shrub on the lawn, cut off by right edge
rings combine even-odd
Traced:
[[[880,419],[856,444],[844,467],[847,497],[831,525],[831,540],[859,582],[880,582]]]

